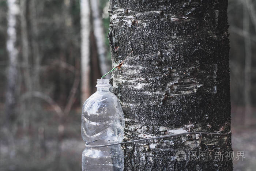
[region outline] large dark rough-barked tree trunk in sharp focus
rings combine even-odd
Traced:
[[[125,141],[230,131],[227,0],[110,0],[110,19],[113,66],[128,56],[113,72]],[[232,150],[230,134],[191,134],[123,148],[125,170],[232,170],[232,161],[214,161],[215,152]],[[178,150],[186,160],[176,160]],[[189,161],[191,151],[208,151],[208,161]]]

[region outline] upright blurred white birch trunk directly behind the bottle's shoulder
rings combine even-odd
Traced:
[[[90,3],[80,0],[81,22],[81,103],[90,96]]]

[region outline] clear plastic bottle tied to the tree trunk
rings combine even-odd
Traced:
[[[108,79],[97,80],[97,91],[83,104],[82,138],[88,145],[122,142],[124,114],[117,97],[109,91]],[[120,145],[89,148],[82,153],[83,171],[123,171],[124,153]]]

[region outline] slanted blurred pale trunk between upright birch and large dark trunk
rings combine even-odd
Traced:
[[[93,17],[93,33],[96,39],[97,52],[99,58],[99,67],[101,74],[105,74],[110,70],[106,60],[105,34],[102,24],[102,16],[99,12],[99,0],[91,0],[91,14]],[[107,76],[108,77],[108,76]]]

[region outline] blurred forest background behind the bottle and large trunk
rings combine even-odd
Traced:
[[[0,0],[0,170],[81,170],[81,104],[111,68],[108,7]],[[234,170],[255,170],[256,0],[229,0],[228,18],[232,144],[246,157]]]

